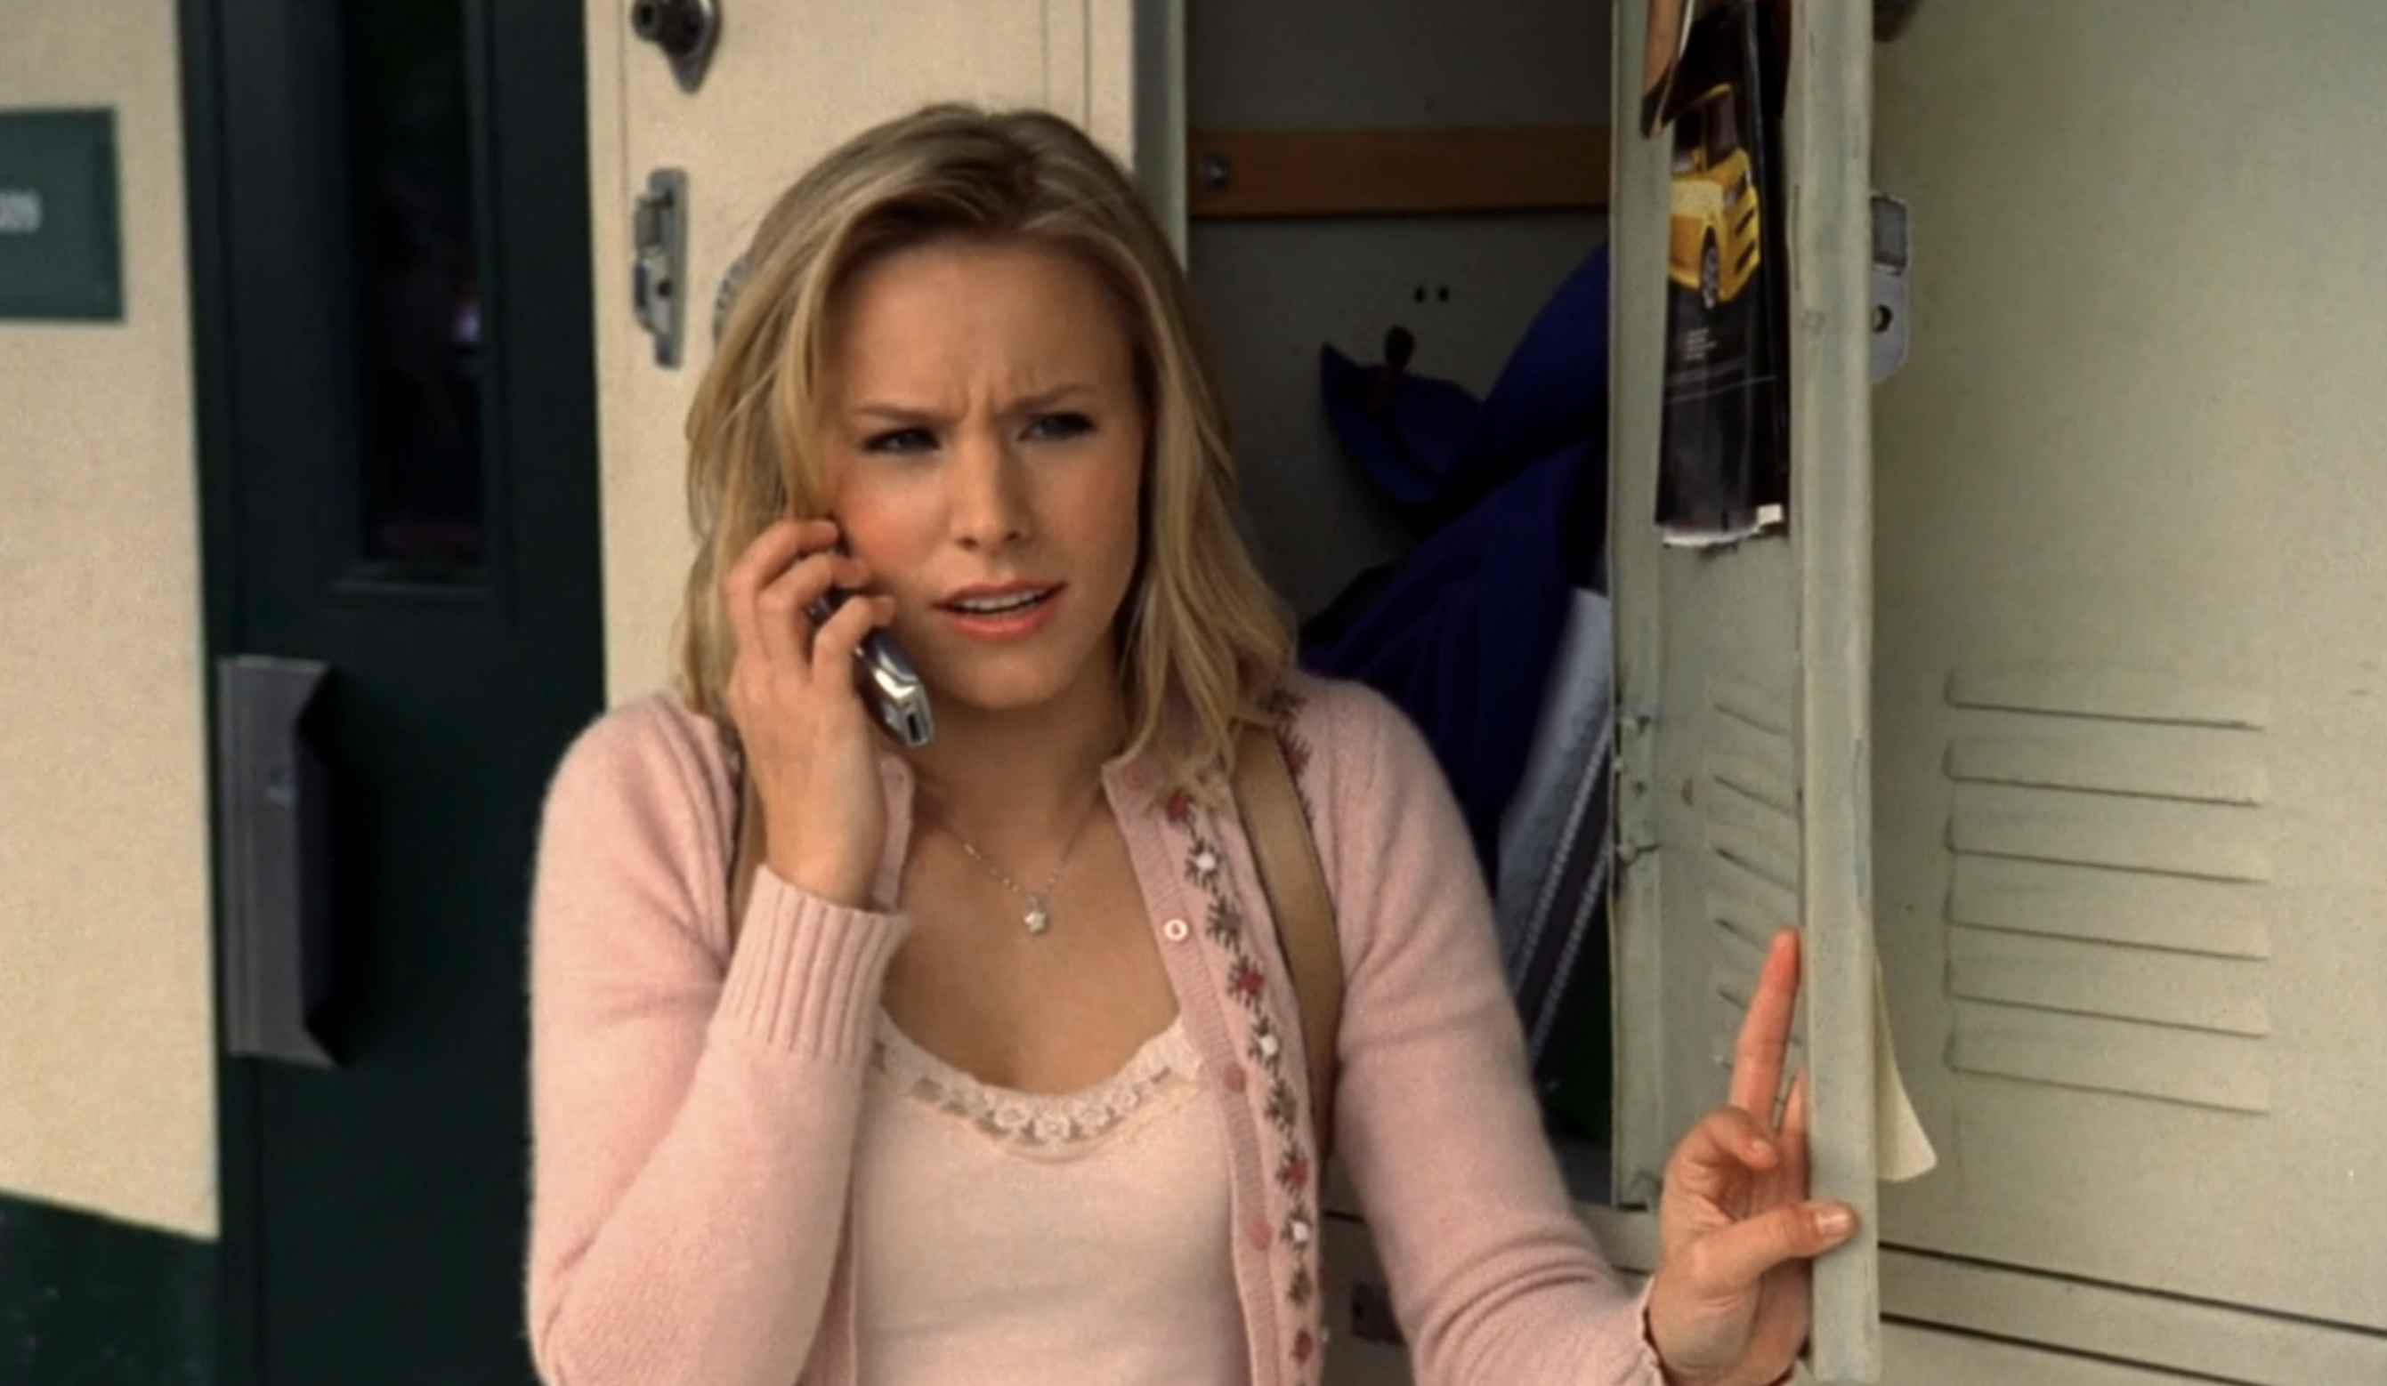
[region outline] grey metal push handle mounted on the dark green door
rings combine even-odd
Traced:
[[[224,887],[224,1052],[337,1069],[332,1000],[332,792],[310,737],[332,668],[239,654],[217,661],[217,878]]]

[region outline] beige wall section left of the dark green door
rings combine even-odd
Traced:
[[[174,0],[0,29],[0,107],[117,110],[127,289],[122,324],[0,322],[0,1190],[212,1236]]]

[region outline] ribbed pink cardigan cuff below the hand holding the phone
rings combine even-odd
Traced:
[[[876,1028],[888,961],[909,928],[907,916],[831,904],[761,866],[716,1023],[778,1052],[859,1062]]]

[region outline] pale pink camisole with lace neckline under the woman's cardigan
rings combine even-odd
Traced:
[[[1227,1150],[1172,1023],[1069,1095],[878,1016],[855,1150],[862,1386],[1246,1386]]]

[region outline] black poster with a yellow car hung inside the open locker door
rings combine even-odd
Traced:
[[[1649,0],[1642,134],[1671,150],[1657,491],[1669,544],[1788,522],[1785,72],[1788,0]]]

